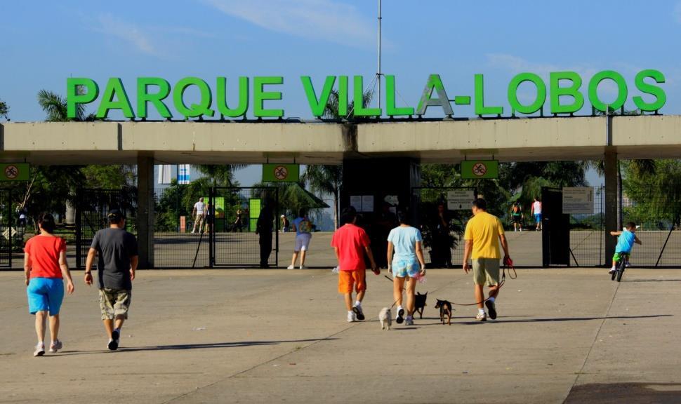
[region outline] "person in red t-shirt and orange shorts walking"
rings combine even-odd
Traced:
[[[376,267],[376,262],[373,260],[373,254],[371,254],[369,247],[369,236],[364,229],[355,225],[357,210],[352,206],[343,209],[341,221],[344,224],[333,233],[331,247],[336,252],[338,259],[338,292],[345,297],[348,323],[352,323],[353,321],[364,320],[364,312],[362,311],[362,299],[364,299],[366,292],[364,253],[369,257],[371,270],[374,274],[381,274],[381,269]],[[352,304],[353,288],[357,293],[355,304]]]

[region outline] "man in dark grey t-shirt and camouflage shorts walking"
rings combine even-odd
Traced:
[[[128,318],[138,264],[137,240],[125,230],[125,224],[123,213],[111,210],[109,227],[95,233],[85,264],[85,283],[92,285],[92,264],[98,257],[100,309],[111,351],[118,349],[121,328]]]

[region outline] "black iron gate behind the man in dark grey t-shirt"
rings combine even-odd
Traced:
[[[137,193],[134,189],[79,189],[76,192],[76,267],[85,260],[95,233],[109,227],[110,210],[126,215],[126,230],[136,234]]]

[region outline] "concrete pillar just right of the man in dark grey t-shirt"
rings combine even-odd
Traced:
[[[137,157],[137,243],[140,269],[154,267],[154,158]]]

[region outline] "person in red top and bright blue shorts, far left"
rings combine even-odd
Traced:
[[[38,217],[40,234],[26,242],[24,248],[24,273],[26,275],[26,293],[28,295],[28,311],[36,316],[36,334],[38,344],[33,356],[45,354],[45,321],[50,318],[50,352],[62,349],[59,334],[59,310],[64,298],[64,281],[67,291],[74,291],[69,266],[66,262],[66,242],[53,235],[55,222],[49,213]]]

